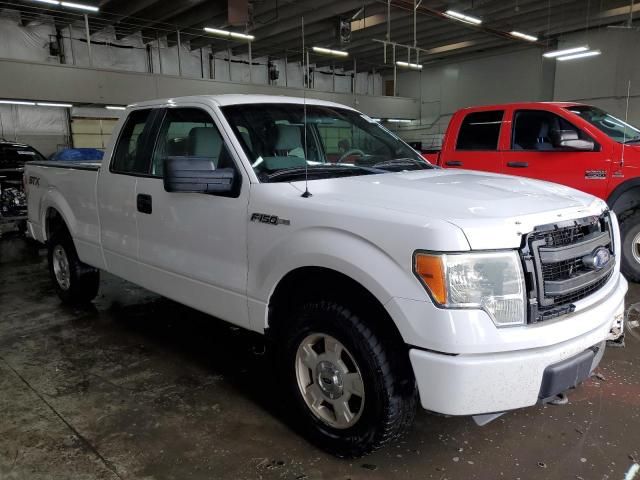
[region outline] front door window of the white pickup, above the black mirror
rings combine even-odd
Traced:
[[[213,119],[199,108],[167,109],[151,161],[151,174],[162,176],[170,157],[210,159],[216,168],[233,166]]]

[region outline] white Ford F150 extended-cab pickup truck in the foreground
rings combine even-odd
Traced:
[[[265,334],[292,424],[340,456],[397,438],[418,401],[482,424],[554,397],[622,334],[605,202],[438,169],[345,106],[135,104],[102,165],[25,176],[63,301],[105,270]]]

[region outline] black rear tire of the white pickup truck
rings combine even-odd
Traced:
[[[91,302],[98,294],[100,271],[80,261],[73,240],[66,230],[54,235],[48,242],[49,274],[60,299],[71,305]],[[56,275],[54,256],[62,251],[67,260],[68,269],[64,276],[67,282]]]

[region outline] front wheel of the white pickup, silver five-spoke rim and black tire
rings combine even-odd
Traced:
[[[416,410],[404,345],[390,348],[358,309],[309,302],[295,310],[280,371],[294,424],[320,448],[359,457],[404,433]]]

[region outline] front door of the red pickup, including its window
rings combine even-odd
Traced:
[[[511,125],[503,173],[561,183],[600,198],[606,198],[610,155],[583,128],[559,112],[544,109],[514,109],[507,113]],[[593,142],[588,150],[559,145],[559,132]]]

